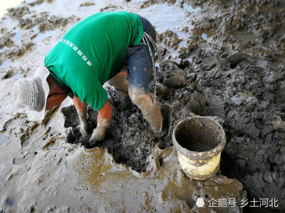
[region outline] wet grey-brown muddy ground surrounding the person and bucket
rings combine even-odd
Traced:
[[[0,21],[0,212],[284,212],[285,2],[27,1]],[[75,23],[100,11],[130,11],[157,31],[160,138],[128,95],[108,84],[113,106],[105,140],[90,147],[70,100],[41,123],[27,121],[11,98],[13,83],[34,74]],[[153,82],[152,82],[153,83]],[[153,88],[152,88],[153,89]],[[227,143],[217,176],[186,177],[172,131],[184,118],[211,116]],[[235,207],[195,202],[236,198]],[[275,198],[276,208],[241,208]],[[259,203],[258,203],[259,205]]]

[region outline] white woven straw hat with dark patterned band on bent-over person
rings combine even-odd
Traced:
[[[43,120],[50,88],[46,78],[48,68],[39,66],[32,78],[17,80],[13,86],[13,99],[17,108],[25,109],[29,120]]]

